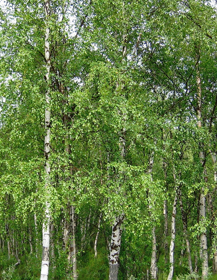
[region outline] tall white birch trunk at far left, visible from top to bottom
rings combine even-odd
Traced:
[[[45,30],[45,59],[46,59],[46,82],[47,82],[47,91],[46,91],[46,109],[45,109],[45,138],[44,138],[44,154],[45,154],[45,193],[48,192],[48,187],[51,184],[50,181],[50,125],[51,125],[51,111],[50,111],[50,90],[49,90],[49,80],[50,80],[50,68],[51,68],[51,60],[50,60],[50,44],[49,44],[49,35],[50,29],[48,25],[48,18],[50,15],[50,5],[49,1],[45,0],[45,18],[46,18],[46,30]],[[48,271],[49,271],[49,247],[50,247],[50,202],[46,201],[45,203],[45,213],[44,213],[44,221],[42,225],[42,267],[41,267],[41,278],[40,280],[48,279]]]

